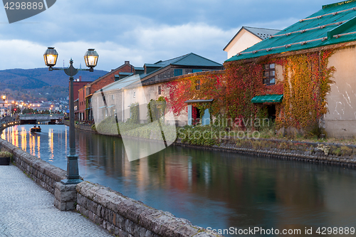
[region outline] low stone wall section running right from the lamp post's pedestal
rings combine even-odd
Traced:
[[[184,218],[159,211],[117,191],[83,181],[77,184],[77,211],[118,236],[214,236]]]

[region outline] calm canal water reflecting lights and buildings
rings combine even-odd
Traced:
[[[66,169],[68,127],[41,125],[42,132],[31,134],[31,126],[9,127],[1,138]],[[308,236],[320,236],[319,227],[356,227],[353,169],[177,146],[129,162],[120,138],[77,131],[75,139],[85,180],[197,226],[301,231],[288,236],[305,236],[310,228]]]

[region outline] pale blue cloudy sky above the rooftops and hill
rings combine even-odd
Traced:
[[[57,0],[50,9],[16,23],[0,10],[0,70],[43,68],[56,47],[58,65],[73,58],[84,68],[88,48],[98,69],[125,60],[135,66],[197,53],[218,63],[241,26],[283,29],[331,4],[330,0]]]

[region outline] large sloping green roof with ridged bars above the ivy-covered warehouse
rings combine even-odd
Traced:
[[[325,5],[315,14],[256,43],[226,62],[349,41],[356,41],[356,0]]]

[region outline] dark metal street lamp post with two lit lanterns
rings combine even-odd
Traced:
[[[73,100],[73,76],[78,73],[78,70],[89,70],[93,72],[95,66],[98,63],[98,53],[93,48],[88,49],[85,53],[84,60],[85,64],[90,69],[76,69],[73,67],[73,60],[70,58],[69,68],[53,68],[56,65],[58,53],[54,47],[48,47],[46,52],[43,54],[46,65],[49,67],[48,70],[64,70],[64,72],[69,76],[69,155],[67,156],[67,179],[61,181],[62,184],[78,184],[81,180],[79,176],[78,169],[78,156],[75,154],[75,127],[74,127],[74,100]]]

